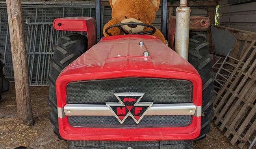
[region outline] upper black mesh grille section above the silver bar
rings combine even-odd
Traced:
[[[140,102],[191,103],[193,87],[187,80],[163,78],[117,78],[70,82],[67,85],[67,104],[118,102],[114,93],[121,92],[145,93]]]

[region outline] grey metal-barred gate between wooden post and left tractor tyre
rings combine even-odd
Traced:
[[[67,32],[57,31],[52,27],[52,23],[28,23],[27,38],[25,40],[28,73],[30,85],[47,85],[50,71],[50,58],[53,55],[52,45],[56,44],[57,38]],[[85,32],[80,32],[83,34]]]

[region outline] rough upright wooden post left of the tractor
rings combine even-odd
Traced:
[[[19,123],[33,125],[20,0],[6,0]]]

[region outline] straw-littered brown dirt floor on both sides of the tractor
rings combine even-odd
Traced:
[[[0,101],[0,149],[26,146],[34,149],[63,149],[66,142],[53,133],[49,119],[48,87],[30,87],[34,126],[18,123],[15,87],[2,93]],[[245,147],[246,148],[246,147]],[[211,131],[204,140],[194,143],[193,149],[238,149],[230,144],[230,139],[211,124]]]

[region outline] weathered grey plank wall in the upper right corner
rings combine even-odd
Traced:
[[[219,0],[219,25],[256,32],[256,2],[230,5]]]

